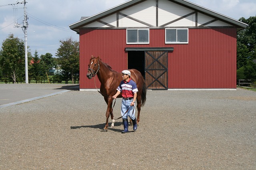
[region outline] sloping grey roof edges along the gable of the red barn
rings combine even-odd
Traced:
[[[114,13],[114,12],[117,12],[117,11],[122,10],[122,9],[124,9],[124,8],[128,8],[129,6],[132,6],[132,5],[138,4],[138,3],[140,3],[140,2],[144,2],[144,1],[146,1],[146,0],[130,0],[130,1],[128,1],[128,2],[124,2],[123,4],[120,4],[120,5],[118,5],[118,6],[115,6],[115,7],[113,7],[113,8],[108,9],[108,10],[105,10],[105,11],[103,11],[103,12],[100,12],[100,13],[98,13],[98,14],[95,14],[95,15],[93,15],[93,16],[90,16],[90,17],[81,17],[81,20],[80,20],[80,21],[75,22],[74,24],[69,25],[69,27],[70,27],[71,30],[74,30],[74,31],[76,31],[76,32],[79,33],[79,29],[80,29],[82,26],[86,25],[87,23],[93,22],[93,21],[98,20],[98,19],[100,19],[100,18],[102,18],[102,17],[104,17],[104,16],[107,16],[107,15],[109,15],[109,14],[112,14],[112,13]],[[210,16],[212,16],[212,17],[214,17],[214,18],[218,18],[218,19],[220,19],[220,20],[222,20],[222,21],[224,21],[224,22],[228,22],[228,23],[230,23],[230,24],[236,26],[237,31],[240,31],[240,30],[246,28],[246,26],[247,26],[247,24],[245,24],[245,23],[243,23],[243,22],[240,22],[240,21],[235,20],[235,19],[233,19],[233,18],[230,18],[230,17],[228,17],[228,16],[224,16],[224,15],[218,13],[218,12],[214,12],[214,11],[212,11],[212,10],[209,10],[209,9],[207,9],[207,8],[204,8],[204,7],[202,7],[202,6],[199,6],[199,5],[197,5],[197,4],[194,4],[194,3],[192,3],[192,2],[188,2],[188,1],[186,1],[186,0],[171,0],[171,1],[172,1],[172,2],[175,2],[175,3],[177,3],[177,4],[180,4],[180,5],[182,5],[182,6],[185,6],[185,7],[187,7],[187,8],[191,8],[191,9],[193,9],[193,10],[196,10],[196,11],[198,11],[198,12],[201,12],[201,13],[203,13],[203,14],[210,15]]]

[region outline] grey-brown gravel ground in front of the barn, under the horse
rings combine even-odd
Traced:
[[[125,134],[105,113],[97,91],[0,108],[0,169],[256,169],[256,92],[147,91]]]

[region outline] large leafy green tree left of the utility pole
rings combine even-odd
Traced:
[[[0,65],[2,66],[2,76],[7,83],[12,78],[16,83],[17,78],[24,79],[25,76],[25,46],[18,37],[10,34],[2,43],[0,51]]]

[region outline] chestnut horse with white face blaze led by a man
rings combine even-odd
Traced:
[[[136,100],[138,109],[137,123],[139,123],[140,107],[142,107],[146,102],[146,83],[138,70],[129,69],[129,71],[131,72],[131,79],[135,81],[138,88]],[[111,127],[114,127],[115,119],[112,108],[112,103],[114,99],[112,98],[112,96],[116,94],[116,89],[122,81],[122,74],[112,70],[109,65],[101,61],[100,57],[92,56],[88,64],[87,77],[88,79],[92,79],[92,77],[94,77],[95,75],[97,75],[98,79],[100,80],[100,93],[102,94],[104,100],[108,105],[106,111],[106,125],[104,127],[104,130],[107,130],[109,115],[112,119]],[[120,94],[118,97],[122,97],[122,95]]]

